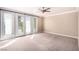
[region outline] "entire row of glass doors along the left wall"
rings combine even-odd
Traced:
[[[2,40],[37,32],[38,18],[14,12],[1,11],[0,37]]]

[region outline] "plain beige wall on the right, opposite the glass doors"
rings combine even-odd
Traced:
[[[78,36],[78,13],[65,13],[44,19],[44,32],[57,33],[71,37]]]

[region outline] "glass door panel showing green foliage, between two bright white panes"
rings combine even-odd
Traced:
[[[24,15],[20,15],[20,14],[17,14],[16,16],[16,36],[21,36],[21,35],[24,35],[24,25],[25,25],[25,22],[24,22]]]

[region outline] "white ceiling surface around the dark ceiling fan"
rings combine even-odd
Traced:
[[[76,10],[75,7],[50,7],[51,12],[47,12],[43,14],[39,10],[40,7],[8,7],[8,8],[17,10],[17,11],[22,11],[22,12],[29,13],[29,14],[33,14],[33,15],[37,15],[37,16],[43,16],[43,17]]]

